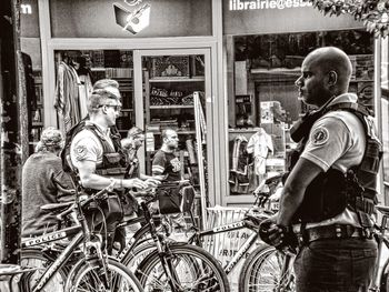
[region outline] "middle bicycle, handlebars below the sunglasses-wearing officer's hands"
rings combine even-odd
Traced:
[[[163,185],[159,185],[163,188]],[[119,226],[143,225],[130,239],[117,260],[126,266],[132,265],[137,249],[151,246],[133,271],[144,291],[222,291],[229,292],[227,275],[220,264],[205,250],[186,243],[168,240],[164,230],[158,230],[160,217],[151,215],[149,203],[156,200],[157,189],[134,193],[140,198],[143,218],[134,218]],[[151,240],[150,240],[151,239]],[[152,244],[149,242],[152,241]],[[82,262],[78,262],[68,273],[68,281],[79,274]],[[67,284],[68,286],[68,284]]]

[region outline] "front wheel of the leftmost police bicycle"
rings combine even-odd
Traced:
[[[102,291],[103,286],[101,276],[106,276],[100,269],[99,259],[91,259],[88,262],[81,260],[83,263],[76,264],[69,273],[64,291]],[[138,279],[131,273],[122,263],[109,258],[108,270],[110,271],[111,291],[114,292],[143,292]],[[112,284],[113,283],[113,284]],[[106,290],[104,290],[106,291]]]

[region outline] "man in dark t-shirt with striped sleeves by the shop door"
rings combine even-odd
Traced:
[[[172,129],[162,131],[162,145],[157,151],[151,165],[152,175],[162,175],[166,181],[181,181],[181,161],[176,157],[178,149],[178,134]],[[186,230],[187,223],[182,213],[170,214],[166,219],[171,221],[171,226],[177,230]]]

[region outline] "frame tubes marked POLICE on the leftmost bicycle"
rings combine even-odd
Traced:
[[[58,272],[59,269],[61,269],[63,264],[70,259],[74,249],[83,240],[82,226],[81,225],[70,226],[59,231],[50,232],[48,234],[44,234],[38,238],[26,239],[22,241],[21,243],[22,248],[31,248],[31,246],[40,245],[42,243],[49,243],[49,242],[53,242],[53,241],[58,241],[67,238],[69,239],[72,235],[73,238],[70,241],[69,245],[67,245],[67,248],[59,254],[56,261],[53,261],[51,265],[44,271],[42,276],[39,279],[38,283],[33,286],[32,292],[41,291],[44,288],[44,285],[51,280],[51,278],[56,274],[56,272]]]

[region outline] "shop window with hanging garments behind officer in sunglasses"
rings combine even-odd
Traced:
[[[56,51],[54,56],[57,83],[53,105],[58,111],[60,129],[68,131],[87,115],[88,95],[92,92],[96,81],[114,79],[119,82],[122,99],[117,127],[124,138],[127,131],[134,125],[132,51],[67,50]],[[68,105],[62,104],[63,102]],[[68,110],[63,111],[64,107],[68,107]]]

